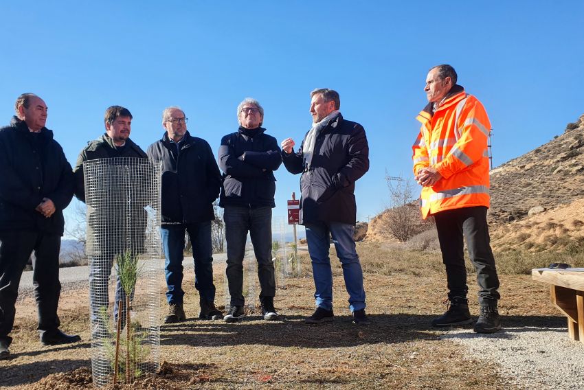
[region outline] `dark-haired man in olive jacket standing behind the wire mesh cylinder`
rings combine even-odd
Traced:
[[[90,141],[83,148],[77,158],[74,168],[76,179],[75,196],[85,202],[85,174],[83,163],[95,159],[136,158],[148,157],[144,150],[130,139],[132,114],[122,106],[111,106],[106,109],[104,125],[106,133],[94,141]],[[120,165],[123,165],[121,162]],[[93,188],[100,192],[104,198],[104,205],[119,203],[120,209],[115,207],[104,209],[94,205],[89,214],[87,224],[87,255],[89,257],[89,305],[91,310],[92,339],[102,339],[107,335],[106,326],[102,323],[100,310],[107,308],[109,294],[107,283],[111,275],[114,257],[126,250],[133,255],[144,251],[144,228],[146,227],[146,211],[144,203],[140,200],[146,198],[146,194],[137,193],[136,188],[124,188],[117,183],[116,178],[110,178],[111,183]],[[144,179],[144,178],[137,178]],[[106,179],[104,179],[105,182]],[[131,192],[132,207],[129,211],[124,204],[127,196],[124,191]],[[100,205],[98,205],[100,206]],[[130,213],[129,215],[126,213]],[[133,222],[133,226],[127,226],[127,220]],[[115,290],[114,319],[120,310],[118,302],[122,301],[125,307],[126,295],[118,277]],[[122,310],[122,316],[125,310]],[[122,317],[122,328],[125,325],[125,317]]]

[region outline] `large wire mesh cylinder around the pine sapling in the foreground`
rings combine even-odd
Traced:
[[[159,366],[161,163],[96,159],[83,171],[91,367],[101,387]]]

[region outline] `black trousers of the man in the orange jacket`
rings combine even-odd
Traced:
[[[434,214],[442,261],[446,266],[448,296],[467,297],[467,268],[464,266],[464,240],[477,271],[479,303],[495,304],[499,295],[499,277],[491,251],[486,207],[463,207]]]

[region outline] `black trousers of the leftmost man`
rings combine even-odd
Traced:
[[[8,344],[14,325],[14,307],[26,263],[36,255],[32,281],[38,310],[38,330],[56,332],[59,326],[57,306],[59,282],[59,234],[42,231],[0,230],[0,339]]]

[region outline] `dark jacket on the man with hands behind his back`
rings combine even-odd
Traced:
[[[146,154],[162,161],[161,209],[163,225],[215,219],[212,203],[219,196],[221,172],[207,141],[188,132],[176,156],[168,133],[150,145]]]

